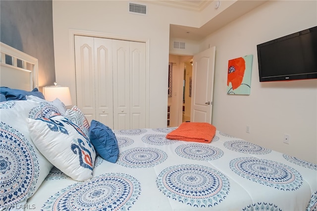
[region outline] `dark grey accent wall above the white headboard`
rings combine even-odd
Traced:
[[[55,81],[52,0],[0,0],[0,41],[39,59],[39,87]]]

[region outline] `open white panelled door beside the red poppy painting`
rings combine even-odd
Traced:
[[[193,57],[192,122],[211,123],[215,47]]]

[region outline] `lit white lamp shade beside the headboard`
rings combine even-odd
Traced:
[[[45,100],[53,101],[58,98],[65,106],[71,106],[71,97],[69,92],[69,87],[62,86],[47,86],[43,87],[43,94]]]

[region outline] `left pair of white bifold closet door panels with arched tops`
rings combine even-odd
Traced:
[[[76,98],[88,122],[113,128],[112,40],[74,36]]]

